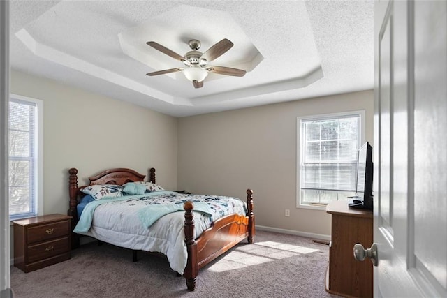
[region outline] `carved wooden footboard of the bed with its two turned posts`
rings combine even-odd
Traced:
[[[184,203],[184,234],[188,261],[184,269],[184,278],[188,290],[196,289],[198,270],[209,262],[240,243],[245,237],[249,244],[254,240],[253,191],[247,189],[247,214],[230,214],[219,218],[211,228],[205,230],[198,239],[194,239],[193,203]]]

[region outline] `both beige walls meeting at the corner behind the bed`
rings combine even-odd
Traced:
[[[45,214],[66,213],[70,167],[79,184],[110,167],[156,167],[167,189],[242,198],[253,188],[256,225],[329,235],[325,211],[296,208],[296,119],[366,110],[373,137],[373,91],[176,119],[16,71],[10,82],[13,94],[44,103]]]

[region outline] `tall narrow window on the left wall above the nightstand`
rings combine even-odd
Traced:
[[[43,214],[43,102],[9,101],[9,217]]]

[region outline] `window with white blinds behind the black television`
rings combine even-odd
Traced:
[[[298,207],[355,194],[364,119],[364,111],[298,118]]]

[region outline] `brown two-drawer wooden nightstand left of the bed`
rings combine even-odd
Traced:
[[[13,224],[15,267],[29,272],[71,258],[71,216],[49,214]]]

